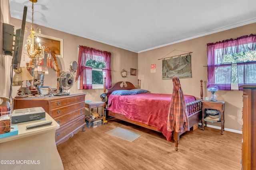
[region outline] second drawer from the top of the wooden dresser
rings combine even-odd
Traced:
[[[52,118],[57,118],[57,117],[61,117],[63,115],[67,115],[72,111],[76,111],[78,109],[83,109],[84,108],[84,102],[80,102],[80,103],[76,103],[76,104],[72,104],[71,106],[65,106],[65,107],[59,107],[56,109],[52,109],[50,112],[50,115]]]

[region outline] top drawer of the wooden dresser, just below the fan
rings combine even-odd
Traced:
[[[56,107],[63,107],[71,104],[75,104],[77,102],[84,102],[85,96],[74,96],[71,98],[60,98],[59,100],[53,100],[51,101],[51,109],[54,109]]]

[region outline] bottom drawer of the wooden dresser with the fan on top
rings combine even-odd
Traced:
[[[63,127],[60,127],[60,129],[56,130],[56,134],[55,134],[56,143],[59,143],[62,139],[66,138],[67,136],[73,137],[73,135],[75,134],[74,131],[76,131],[78,128],[80,129],[80,127],[82,127],[85,124],[86,123],[85,123],[84,115],[82,115],[81,117],[74,119],[74,121],[71,121],[70,123],[64,125]]]

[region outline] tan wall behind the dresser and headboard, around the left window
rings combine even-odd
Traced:
[[[36,18],[34,19],[36,20]],[[21,20],[11,18],[11,24],[15,26],[15,29],[21,27]],[[26,25],[30,27],[31,23],[26,22]],[[78,37],[76,35],[72,35],[69,33],[64,33],[62,31],[57,31],[55,29],[50,29],[43,26],[34,25],[34,28],[40,27],[41,33],[44,35],[57,37],[63,39],[64,44],[64,58],[58,58],[58,64],[60,65],[61,71],[68,71],[69,64],[71,61],[78,62],[78,45],[84,45],[88,47],[92,47],[95,49],[100,49],[102,51],[109,51],[112,53],[111,56],[111,68],[112,68],[112,83],[118,82],[118,81],[130,81],[134,84],[137,84],[138,76],[132,76],[130,75],[130,68],[136,68],[138,69],[138,54],[127,51],[124,49],[120,49],[117,47],[113,47],[111,45],[106,45],[97,41],[92,41],[90,39],[86,39],[83,37]],[[28,32],[25,32],[24,35],[24,43],[26,41],[26,37],[28,36]],[[25,52],[25,48],[23,48],[23,51]],[[23,60],[25,59],[25,62]],[[26,62],[29,62],[29,58],[24,55],[21,59],[21,66],[25,66]],[[46,64],[46,63],[45,63]],[[125,69],[128,72],[128,76],[126,78],[122,78],[121,76],[121,70]],[[51,68],[49,68],[51,71],[50,75],[45,76],[45,82],[44,86],[50,86],[50,87],[56,87],[57,83],[57,76],[55,72],[52,72]],[[103,89],[97,89],[97,90],[78,90],[77,82],[75,82],[72,89],[70,89],[70,92],[74,93],[86,93],[86,100],[91,101],[100,101],[100,94],[103,93]],[[16,91],[13,91],[12,96],[16,96]]]

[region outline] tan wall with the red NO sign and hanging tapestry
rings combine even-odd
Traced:
[[[207,67],[204,67],[207,65],[206,44],[224,39],[235,39],[242,35],[250,35],[251,33],[256,33],[256,23],[139,53],[138,78],[141,79],[141,88],[154,93],[172,93],[172,80],[162,80],[162,60],[158,59],[176,49],[192,52],[192,78],[180,79],[184,94],[191,94],[200,98],[200,80],[202,79],[204,97],[210,96],[210,93],[206,90]],[[182,54],[182,52],[176,53],[174,51],[166,57],[179,54]],[[151,64],[156,64],[156,73],[150,73]],[[226,101],[225,128],[242,131],[242,91],[219,90],[216,95],[217,100]],[[217,123],[212,125],[220,126]]]

